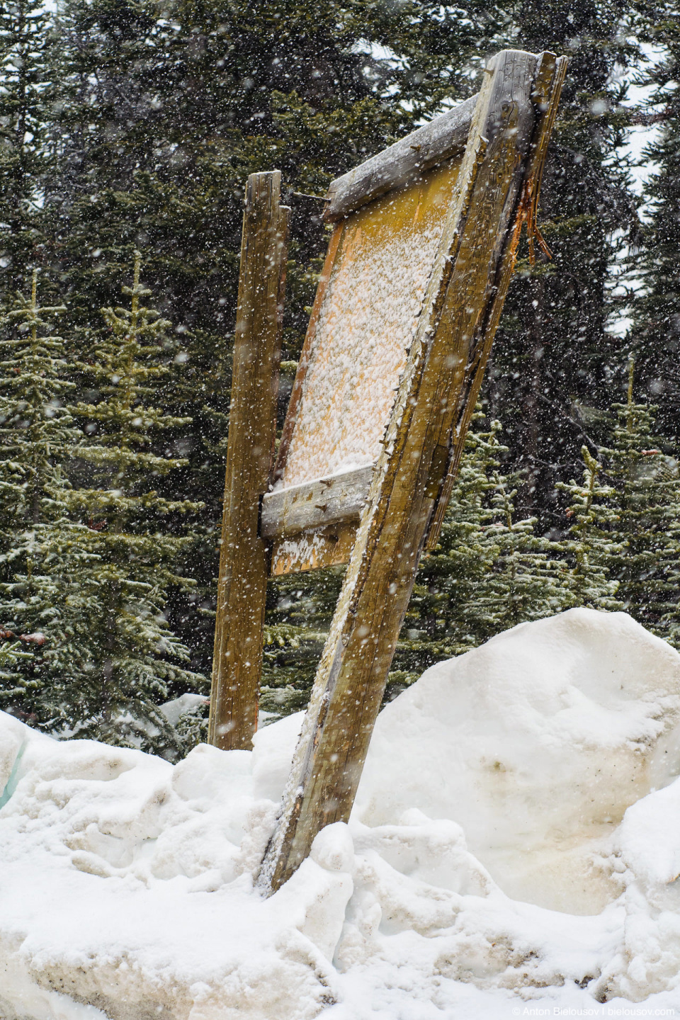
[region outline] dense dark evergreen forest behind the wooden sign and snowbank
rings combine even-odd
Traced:
[[[677,4],[63,0],[45,11],[6,0],[0,481],[9,502],[0,522],[0,625],[14,652],[0,677],[4,707],[52,731],[139,743],[143,730],[145,746],[176,743],[153,706],[205,693],[211,670],[246,177],[280,169],[293,207],[282,421],[327,238],[322,202],[295,193],[322,196],[332,177],[472,95],[486,58],[505,47],[570,57],[539,215],[554,258],[530,266],[521,253],[467,474],[439,559],[423,565],[390,692],[443,655],[569,605],[624,607],[675,640]],[[631,98],[631,84],[645,88]],[[627,147],[639,125],[650,129],[643,160],[652,164],[641,197]],[[135,291],[138,251],[139,301],[164,324],[151,340],[140,334],[130,354],[146,364],[144,344],[155,344],[159,369],[151,382],[137,378],[138,410],[147,410],[133,435],[129,408],[115,403],[124,370],[110,348],[113,313],[102,318],[100,309],[132,308],[135,294],[121,288]],[[47,361],[30,370],[12,345],[33,328],[25,302],[36,270],[39,303],[57,309],[43,315],[37,336],[56,336],[58,325],[62,346],[46,348]],[[35,395],[48,362],[72,385],[67,395]],[[57,418],[66,409],[62,424],[74,431],[36,431],[29,442],[25,407],[37,401],[58,409]],[[35,467],[40,443],[44,477]],[[661,460],[644,474],[639,464],[649,456]],[[64,521],[82,530],[64,539]],[[40,570],[31,566],[38,539]],[[483,591],[472,570],[475,557],[482,561],[465,552],[482,547],[495,585]],[[140,585],[163,570],[143,604]],[[40,591],[37,572],[47,578]],[[339,582],[337,570],[272,581],[268,711],[304,705]],[[66,602],[70,616],[60,609]],[[153,632],[130,630],[135,614],[153,617]],[[29,628],[39,634],[33,644],[8,644]],[[79,656],[80,672],[64,679]],[[181,668],[168,665],[173,656]],[[196,709],[184,720],[182,740],[200,735],[200,717]],[[146,729],[135,728],[136,718]]]

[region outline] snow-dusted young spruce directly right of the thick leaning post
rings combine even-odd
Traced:
[[[478,413],[477,417],[481,417]],[[404,684],[525,620],[569,604],[560,548],[518,519],[517,489],[501,470],[501,424],[471,429],[435,552],[423,560],[390,679]]]

